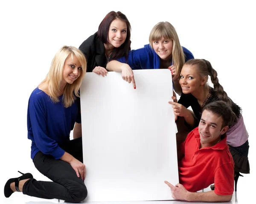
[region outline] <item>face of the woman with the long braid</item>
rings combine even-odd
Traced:
[[[202,78],[195,66],[184,65],[180,72],[180,86],[184,94],[193,93],[204,85],[205,80]]]

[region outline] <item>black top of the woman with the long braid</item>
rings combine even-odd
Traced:
[[[182,93],[178,103],[182,104],[186,108],[191,106],[196,117],[194,127],[197,127],[199,124],[199,120],[201,119],[202,110],[204,109],[204,106],[206,106],[208,103],[211,103],[213,101],[221,101],[221,100],[218,98],[217,92],[212,87],[210,87],[209,94],[207,95],[207,98],[204,100],[202,107],[199,105],[197,98],[195,98],[195,96],[193,96],[191,93],[190,94]],[[241,108],[238,105],[236,105],[236,103],[234,103],[233,101],[232,101],[231,109],[239,118],[239,116],[241,115]]]

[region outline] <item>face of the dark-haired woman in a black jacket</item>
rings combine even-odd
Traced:
[[[108,30],[108,43],[113,49],[120,47],[125,42],[127,36],[127,25],[125,21],[116,19],[113,20]]]

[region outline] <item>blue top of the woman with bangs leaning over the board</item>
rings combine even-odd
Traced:
[[[185,62],[194,59],[193,54],[188,49],[185,47],[182,47],[182,49],[185,54]],[[128,61],[126,61],[125,57],[121,57],[117,59],[117,61],[127,63],[131,69],[160,68],[160,57],[154,52],[154,49],[152,49],[149,44],[145,45],[143,48],[131,50],[128,55]]]

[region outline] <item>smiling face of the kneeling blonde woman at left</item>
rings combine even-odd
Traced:
[[[73,58],[73,59],[72,59]],[[63,73],[62,73],[62,86],[67,83],[73,83],[81,74],[81,63],[75,55],[71,57],[69,55],[64,62]]]

